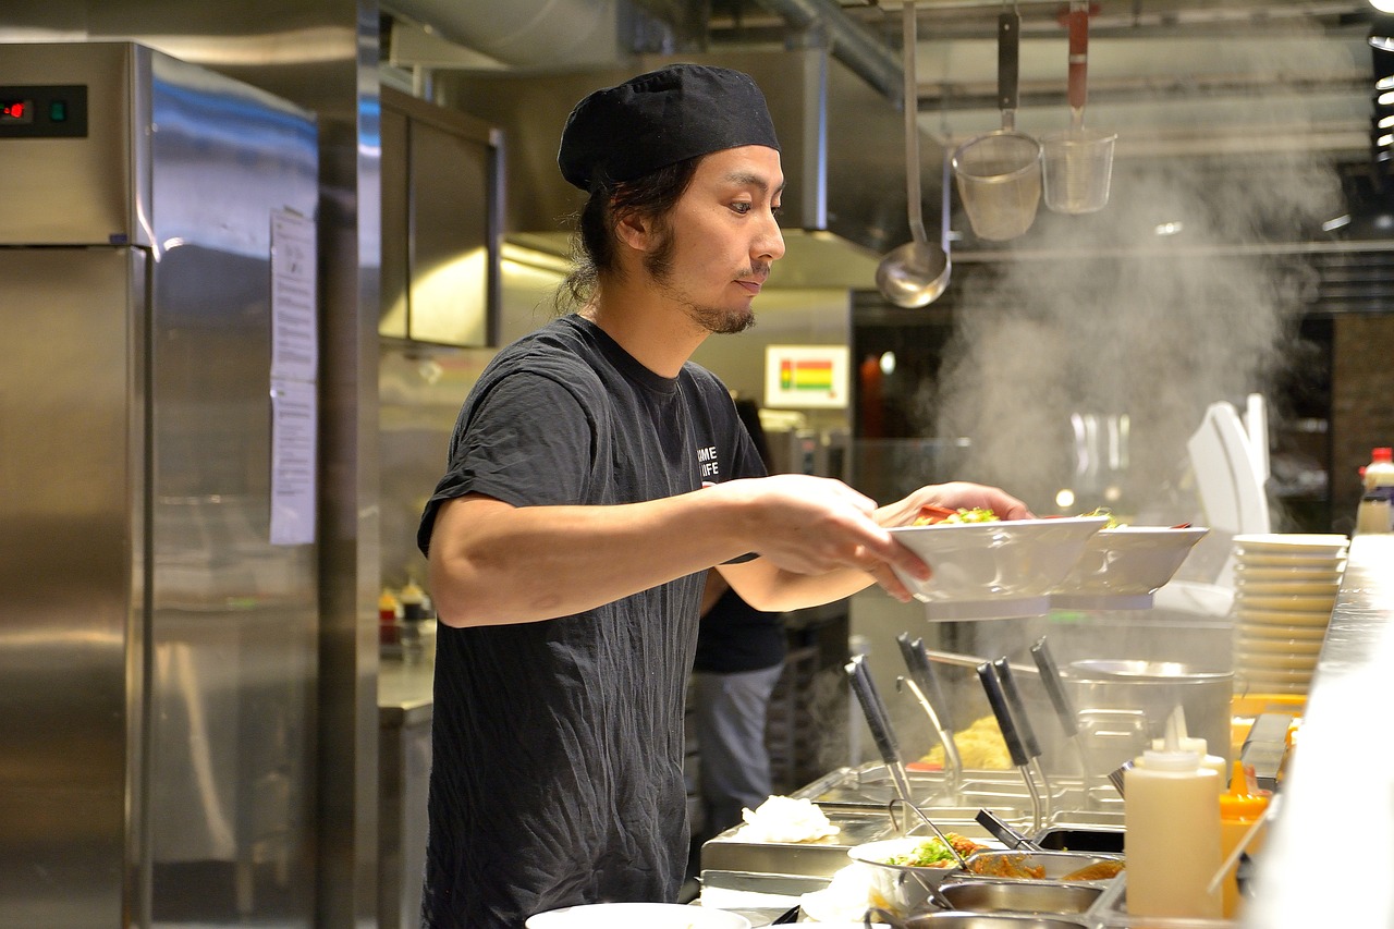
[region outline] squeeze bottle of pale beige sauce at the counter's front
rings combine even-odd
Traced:
[[[1178,742],[1168,727],[1165,749],[1143,752],[1124,774],[1128,912],[1218,919],[1220,889],[1209,884],[1224,861],[1220,774]]]

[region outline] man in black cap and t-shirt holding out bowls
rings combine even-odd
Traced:
[[[765,476],[726,388],[689,361],[754,321],[783,255],[779,144],[726,68],[597,91],[558,163],[585,191],[577,310],[470,391],[418,544],[436,642],[422,925],[517,929],[602,901],[675,901],[687,863],[683,704],[708,568],[786,611],[930,566],[887,526],[920,505],[1026,515],[1001,490],[877,508]]]

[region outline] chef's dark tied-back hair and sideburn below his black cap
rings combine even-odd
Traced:
[[[572,272],[558,289],[559,311],[585,305],[602,275],[620,273],[615,241],[615,226],[620,219],[638,213],[664,227],[665,218],[691,184],[700,160],[689,158],[631,181],[598,179],[591,186],[590,199],[577,215],[576,234],[572,236]],[[671,241],[666,239],[648,257],[651,266],[666,264]]]

